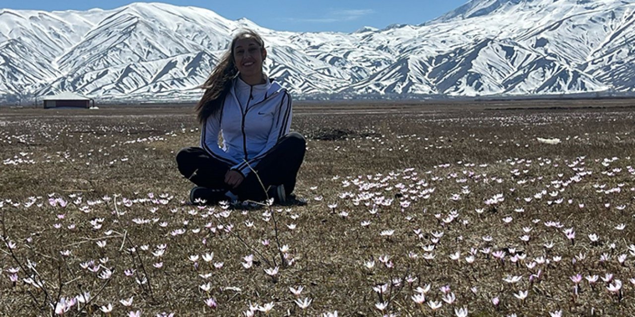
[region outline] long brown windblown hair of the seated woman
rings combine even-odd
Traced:
[[[229,49],[223,54],[218,61],[216,67],[211,72],[210,77],[205,81],[201,88],[205,89],[203,98],[196,104],[194,111],[196,112],[196,119],[203,124],[208,117],[217,115],[220,109],[223,107],[223,101],[225,96],[231,89],[232,80],[238,75],[236,64],[234,63],[234,44],[239,39],[254,39],[260,48],[264,48],[265,43],[262,41],[262,37],[258,35],[254,30],[244,29],[241,30],[229,44]]]

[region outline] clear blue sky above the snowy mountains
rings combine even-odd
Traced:
[[[112,9],[133,2],[198,6],[231,20],[245,17],[274,30],[353,32],[363,26],[383,29],[394,23],[424,23],[468,0],[0,0],[0,8],[45,11]]]

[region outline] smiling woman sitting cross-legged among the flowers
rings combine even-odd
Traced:
[[[264,74],[266,57],[262,38],[244,30],[203,86],[196,105],[201,145],[177,154],[178,170],[197,185],[190,191],[193,204],[267,198],[285,204],[294,198],[306,141],[290,133],[291,96]]]

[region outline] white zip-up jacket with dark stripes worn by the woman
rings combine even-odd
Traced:
[[[289,133],[291,115],[291,96],[280,84],[266,79],[265,84],[250,86],[236,77],[220,112],[203,124],[201,148],[247,176]]]

